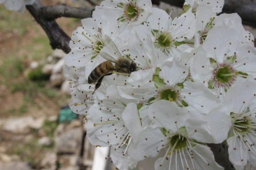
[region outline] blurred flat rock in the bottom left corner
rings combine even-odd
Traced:
[[[32,170],[28,162],[0,162],[0,170]]]

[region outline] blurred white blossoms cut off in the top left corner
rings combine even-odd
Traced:
[[[26,5],[31,5],[35,0],[0,0],[0,4],[4,4],[4,6],[8,10],[24,12]]]

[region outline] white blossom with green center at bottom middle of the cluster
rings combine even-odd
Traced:
[[[194,141],[206,142],[206,136],[208,142],[212,139],[204,121],[189,120],[188,113],[174,102],[161,100],[150,107],[149,115],[156,126],[138,135],[136,146],[128,150],[134,158],[155,157],[160,150],[167,149],[155,162],[156,170],[223,169],[214,161],[210,148]]]

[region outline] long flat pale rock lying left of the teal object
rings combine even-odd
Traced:
[[[44,123],[44,117],[34,119],[32,116],[7,119],[4,123],[4,130],[14,133],[26,133],[28,127],[40,129]]]

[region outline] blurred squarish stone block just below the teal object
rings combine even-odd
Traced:
[[[63,131],[59,131],[63,130]],[[57,153],[79,154],[82,145],[83,131],[81,127],[70,130],[63,128],[56,129],[55,150]]]

